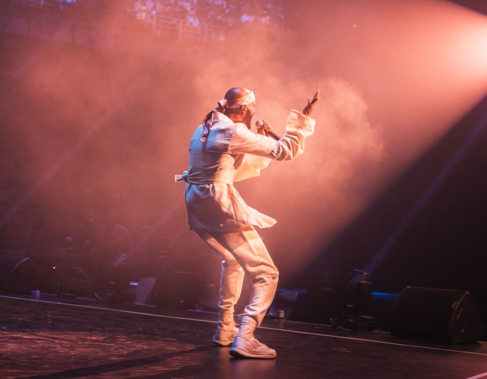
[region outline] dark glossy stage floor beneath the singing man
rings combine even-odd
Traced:
[[[217,315],[150,306],[0,296],[0,377],[487,378],[487,343],[265,320],[274,360],[232,358],[210,340]]]

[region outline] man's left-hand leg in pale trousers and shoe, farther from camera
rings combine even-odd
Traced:
[[[233,342],[237,329],[233,319],[233,308],[237,303],[243,283],[243,268],[218,241],[208,233],[198,232],[201,238],[217,253],[224,258],[222,261],[222,274],[220,282],[220,317],[217,331],[213,336],[213,342],[228,346]]]

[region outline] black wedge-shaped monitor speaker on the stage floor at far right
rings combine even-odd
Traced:
[[[406,287],[392,309],[389,331],[401,337],[476,342],[485,324],[468,291]]]

